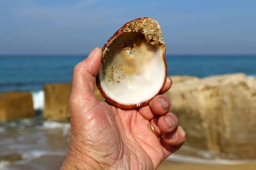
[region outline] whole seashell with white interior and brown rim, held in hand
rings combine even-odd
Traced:
[[[106,42],[96,85],[120,108],[148,104],[163,89],[166,46],[159,23],[151,17],[126,23]]]

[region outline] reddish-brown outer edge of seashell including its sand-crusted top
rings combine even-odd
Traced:
[[[125,34],[125,33],[128,33],[128,32],[137,32],[137,31],[140,31],[140,29],[142,29],[141,26],[144,26],[145,27],[145,22],[147,22],[149,20],[152,20],[151,17],[142,17],[142,18],[137,18],[135,20],[132,20],[132,21],[129,21],[128,23],[125,23],[124,26],[122,26],[119,30],[116,31],[115,34],[113,34],[113,36],[111,38],[108,39],[108,41],[105,43],[105,45],[103,46],[102,48],[102,53],[103,53],[103,56],[102,56],[102,61],[105,59],[105,55],[108,54],[108,47],[110,46],[111,42],[113,40],[115,40],[119,35],[121,34]],[[143,27],[143,28],[144,28]],[[155,28],[155,27],[154,27]],[[158,28],[156,28],[158,29]],[[162,37],[162,33],[160,30],[156,30],[155,33],[157,34],[148,34],[148,35],[145,35],[145,38],[148,42],[151,42],[154,43],[154,45],[158,45],[158,44],[163,44],[164,45],[164,41],[163,41],[163,37]],[[152,41],[153,40],[153,41]],[[165,68],[166,68],[166,71],[165,71],[165,80],[164,80],[164,83],[160,89],[160,91],[162,91],[163,89],[163,86],[165,85],[165,82],[166,82],[166,77],[167,77],[167,63],[166,63],[166,48],[164,49],[164,52],[163,52],[163,60],[165,62]],[[125,108],[125,109],[131,109],[131,108],[138,108],[138,107],[141,107],[141,106],[144,106],[144,105],[147,105],[151,100],[154,99],[155,96],[157,96],[160,91],[158,92],[158,94],[156,94],[155,96],[153,96],[151,99],[145,101],[145,102],[142,102],[140,103],[140,105],[137,105],[137,104],[134,104],[134,105],[123,105],[123,104],[120,104],[114,100],[112,100],[111,98],[108,97],[107,94],[105,94],[105,92],[102,90],[102,87],[100,85],[100,81],[99,81],[99,74],[96,76],[96,85],[100,91],[100,93],[102,94],[102,96],[108,101],[110,102],[111,104],[113,105],[116,105],[120,108]]]

